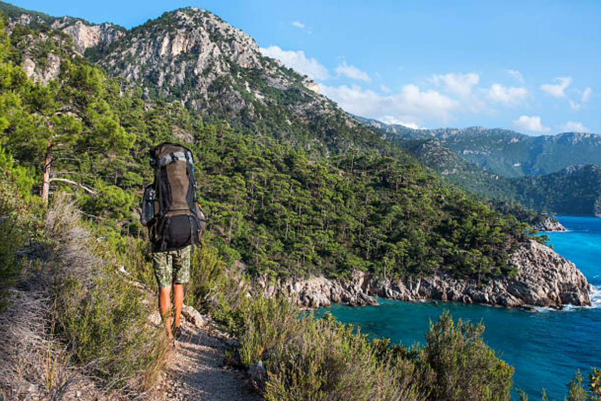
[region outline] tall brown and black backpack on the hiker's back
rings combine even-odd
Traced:
[[[165,142],[150,150],[150,165],[154,183],[144,190],[141,222],[154,248],[168,251],[198,243],[206,221],[197,203],[192,152]]]

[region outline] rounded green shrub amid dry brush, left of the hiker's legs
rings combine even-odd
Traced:
[[[55,292],[56,316],[76,360],[90,366],[109,387],[121,387],[160,360],[162,330],[152,329],[142,294],[115,274],[91,286],[72,277]]]

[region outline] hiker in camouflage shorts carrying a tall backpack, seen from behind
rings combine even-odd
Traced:
[[[184,284],[190,278],[190,258],[206,223],[196,198],[192,152],[182,145],[165,142],[150,150],[150,167],[154,169],[154,182],[144,189],[141,222],[148,227],[154,276],[159,286],[159,310],[169,346],[173,346],[174,338],[181,333],[180,316]]]

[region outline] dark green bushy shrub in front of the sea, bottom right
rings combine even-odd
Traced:
[[[484,343],[484,326],[453,322],[448,311],[426,333],[419,358],[432,369],[435,400],[510,400],[513,367]]]

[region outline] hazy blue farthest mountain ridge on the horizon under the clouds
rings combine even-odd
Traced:
[[[471,164],[504,177],[549,174],[574,165],[601,165],[601,135],[564,132],[528,136],[504,129],[410,129],[361,118],[393,141],[438,139]]]

